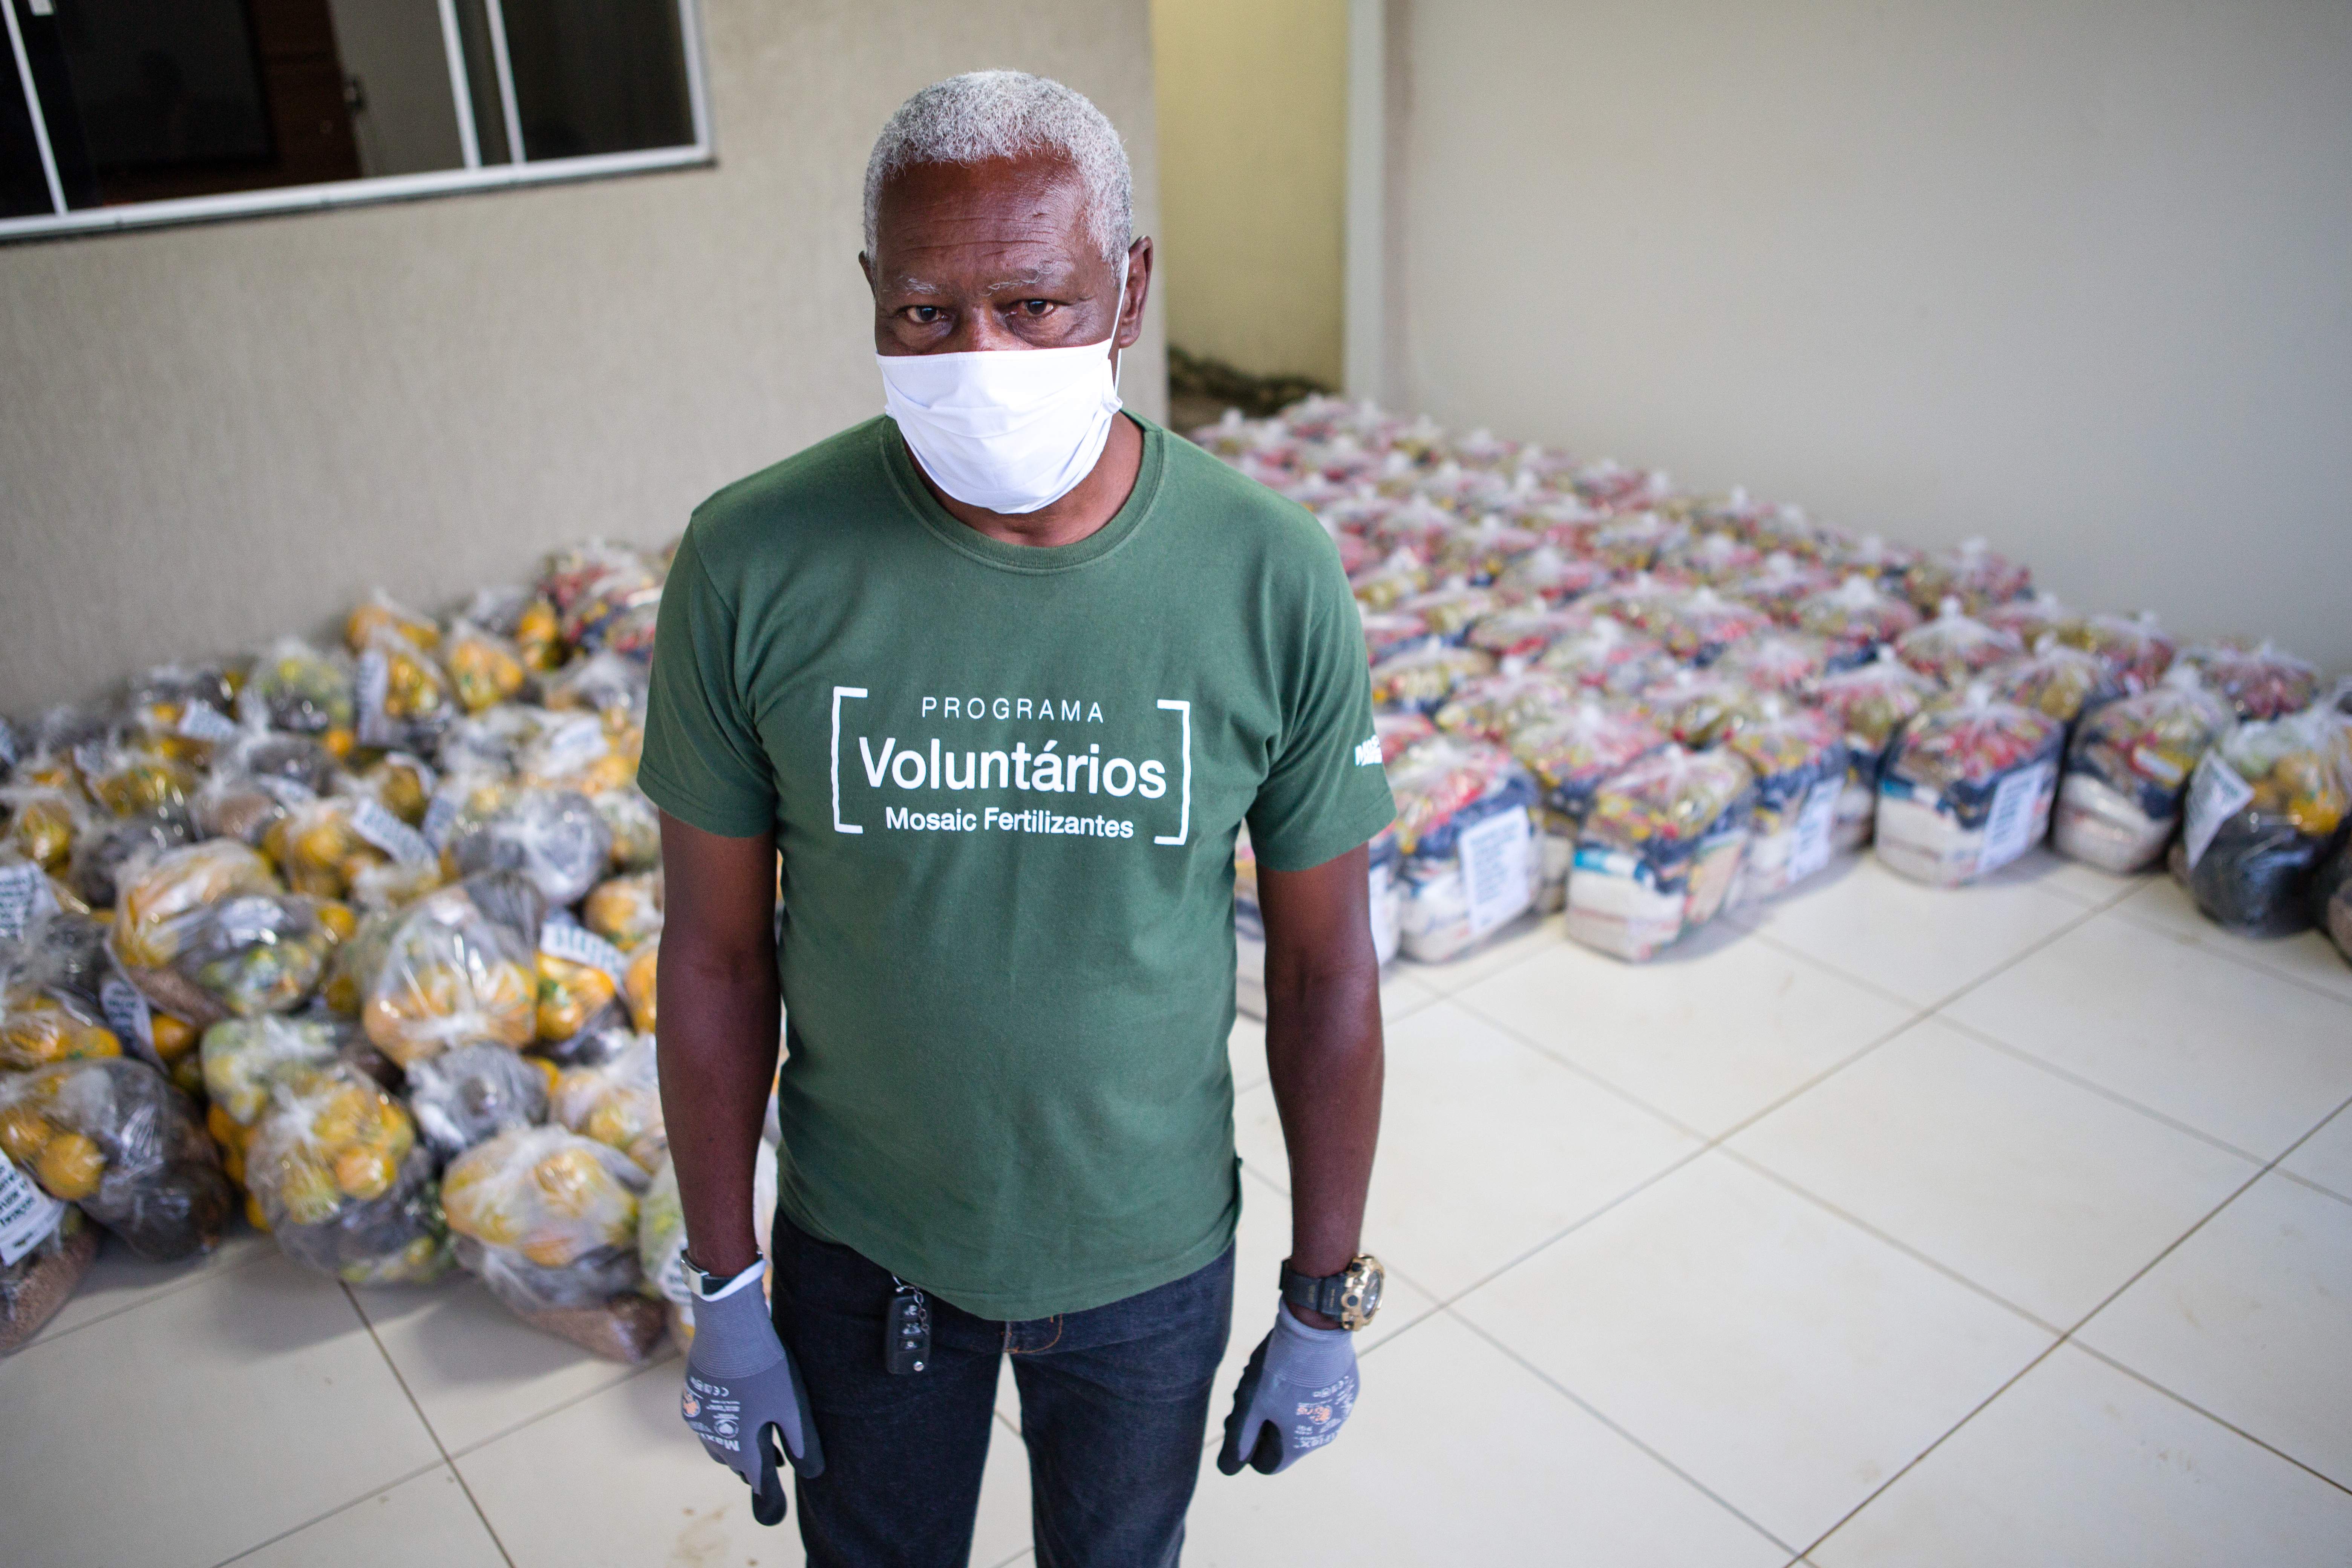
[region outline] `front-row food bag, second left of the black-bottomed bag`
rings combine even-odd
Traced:
[[[1936,886],[1994,872],[2049,832],[2065,724],[1985,686],[1903,726],[1879,773],[1877,853]]]

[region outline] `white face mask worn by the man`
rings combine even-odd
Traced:
[[[1120,261],[1120,310],[1127,261]],[[1054,505],[1094,473],[1120,411],[1110,336],[1077,348],[875,355],[882,407],[938,489],[990,512]]]

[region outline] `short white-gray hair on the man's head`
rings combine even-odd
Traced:
[[[1120,132],[1087,94],[1025,71],[967,71],[898,106],[866,160],[866,254],[877,249],[882,186],[922,162],[1061,153],[1077,167],[1087,237],[1117,266],[1134,237],[1134,174]]]

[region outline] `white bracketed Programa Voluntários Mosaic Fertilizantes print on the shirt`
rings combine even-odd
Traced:
[[[1192,832],[1190,701],[1117,712],[1091,698],[957,693],[908,705],[875,701],[866,686],[833,689],[833,832],[1054,832],[1174,846]]]

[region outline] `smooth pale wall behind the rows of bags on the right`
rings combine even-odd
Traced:
[[[1416,0],[1390,395],[2352,665],[2343,0]]]

